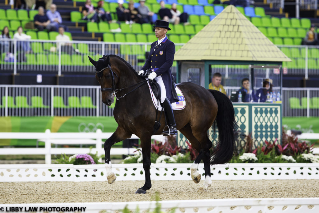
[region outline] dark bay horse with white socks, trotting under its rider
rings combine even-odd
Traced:
[[[115,132],[104,143],[105,168],[108,183],[115,181],[110,161],[110,148],[113,144],[128,139],[132,134],[141,141],[145,184],[136,193],[145,194],[150,189],[151,177],[151,136],[161,134],[165,127],[162,116],[161,126],[153,133],[156,117],[148,84],[145,77],[137,75],[133,67],[116,55],[107,55],[94,61],[95,78],[100,83],[102,102],[110,106],[116,97],[113,115],[118,126]],[[198,156],[191,165],[191,178],[199,183],[201,175],[197,171],[201,160],[204,163],[205,181],[199,190],[207,191],[211,186],[211,168],[213,164],[226,164],[234,155],[238,146],[238,126],[235,121],[234,107],[229,98],[223,93],[205,89],[195,83],[183,82],[177,84],[186,100],[183,110],[174,110],[176,128],[188,139],[192,147],[198,151]],[[212,142],[207,136],[211,126],[218,128],[218,141],[212,152]]]

